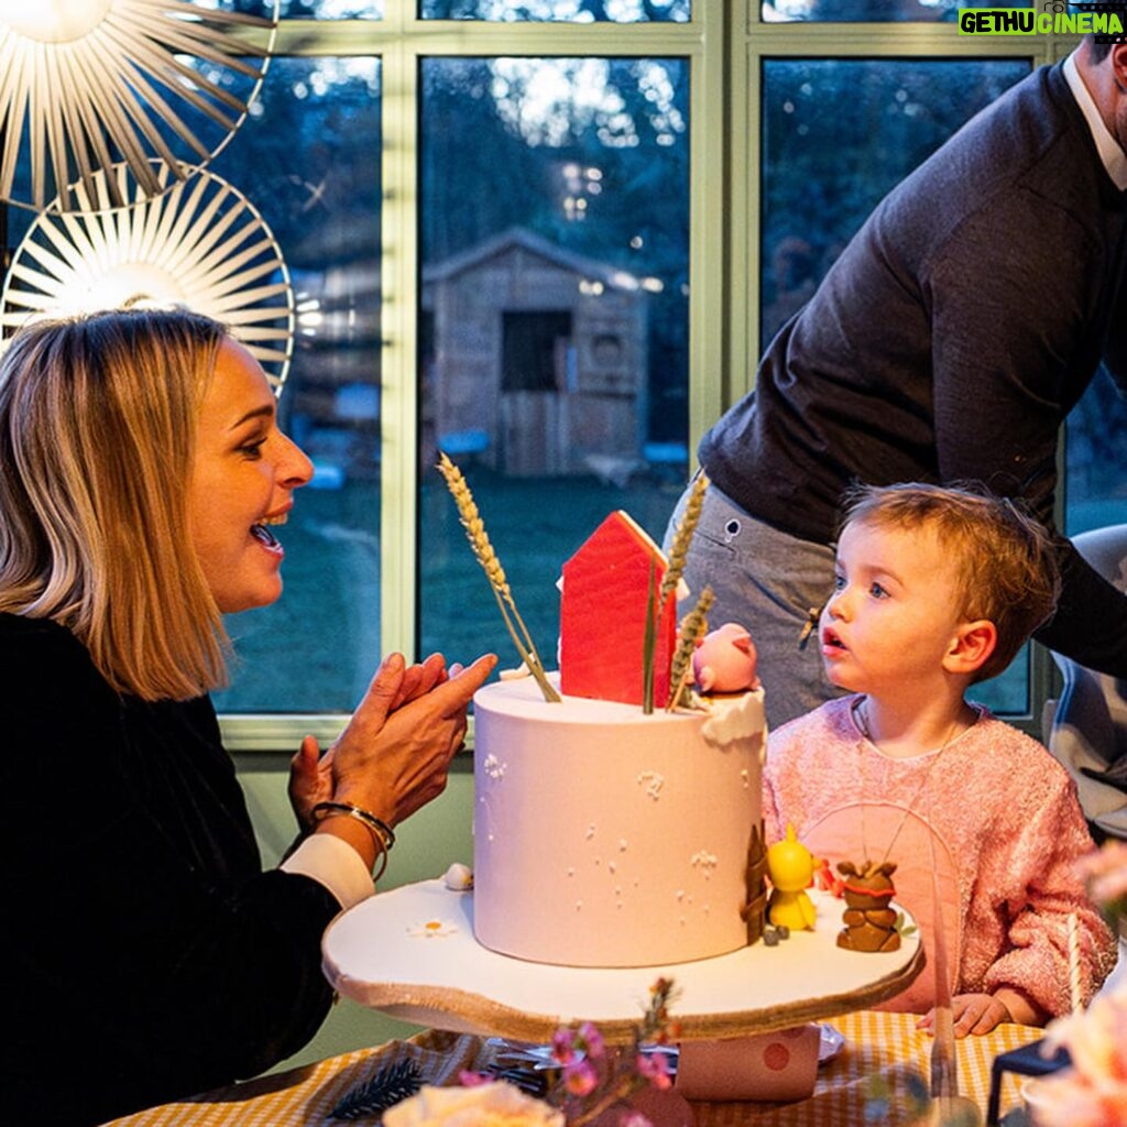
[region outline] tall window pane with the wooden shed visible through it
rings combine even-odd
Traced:
[[[443,449],[554,666],[564,561],[687,472],[689,65],[431,59],[423,99],[421,651],[518,662]]]

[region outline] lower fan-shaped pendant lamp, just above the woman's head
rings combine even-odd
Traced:
[[[131,302],[181,305],[227,325],[261,363],[275,393],[293,353],[294,299],[282,251],[246,196],[212,172],[177,181],[151,169],[158,193],[126,207],[130,169],[95,172],[80,212],[44,212],[0,294],[5,340],[37,314],[72,316]]]

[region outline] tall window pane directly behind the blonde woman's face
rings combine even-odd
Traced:
[[[380,78],[373,59],[275,59],[213,170],[263,213],[298,337],[282,424],[313,459],[286,526],[278,603],[231,615],[224,712],[353,708],[380,653]]]

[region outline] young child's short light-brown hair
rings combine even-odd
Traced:
[[[986,619],[997,629],[994,651],[974,681],[997,676],[1056,610],[1061,576],[1053,540],[1012,500],[975,485],[859,486],[845,498],[844,524],[854,522],[928,529],[949,552],[960,616]]]

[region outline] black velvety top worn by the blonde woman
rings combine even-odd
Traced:
[[[339,905],[263,872],[208,699],[121,696],[69,631],[0,614],[0,738],[11,1122],[101,1122],[312,1036]]]

